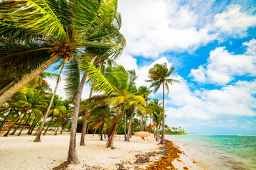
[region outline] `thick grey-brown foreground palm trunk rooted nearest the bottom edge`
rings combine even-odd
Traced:
[[[95,61],[96,57],[92,58],[90,61],[90,64],[92,64]],[[75,141],[76,141],[76,132],[78,128],[78,114],[79,114],[79,108],[80,108],[80,100],[82,96],[82,89],[85,85],[85,80],[87,77],[87,73],[83,74],[82,79],[80,81],[80,84],[78,86],[78,92],[75,96],[75,106],[74,106],[74,112],[72,116],[72,123],[71,123],[71,133],[70,133],[70,145],[68,149],[68,162],[71,164],[78,164],[80,163],[78,160],[78,153],[76,152],[75,148]]]

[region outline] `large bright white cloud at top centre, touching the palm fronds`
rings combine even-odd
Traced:
[[[159,57],[169,50],[193,50],[216,38],[206,28],[197,29],[196,13],[177,1],[119,1],[119,11],[131,55]]]

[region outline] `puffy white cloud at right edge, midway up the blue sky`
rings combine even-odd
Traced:
[[[191,69],[189,75],[195,81],[219,85],[228,84],[235,76],[256,76],[256,40],[243,45],[248,46],[243,55],[233,55],[225,47],[216,48],[210,52],[208,63]]]

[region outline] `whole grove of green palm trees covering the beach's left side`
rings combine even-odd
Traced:
[[[98,133],[100,140],[107,135],[111,148],[117,134],[129,142],[133,132],[147,130],[156,140],[161,135],[161,143],[164,134],[176,134],[164,122],[164,90],[169,94],[168,84],[179,82],[169,79],[174,67],[156,64],[149,69],[149,88],[137,87],[135,70],[114,62],[126,45],[121,26],[117,0],[0,2],[0,133],[28,130],[41,142],[41,134],[68,130],[72,164],[79,162],[77,132],[81,146],[87,133]],[[59,74],[43,72],[51,64]],[[56,94],[60,81],[65,99]],[[85,84],[88,98],[81,97]],[[163,101],[149,98],[150,88],[155,93],[161,85]]]

